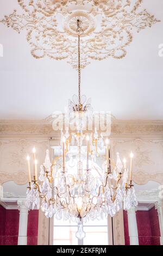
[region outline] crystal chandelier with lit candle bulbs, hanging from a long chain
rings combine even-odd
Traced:
[[[51,162],[46,151],[45,163],[40,166],[37,179],[36,150],[33,149],[34,179],[31,179],[30,157],[27,157],[29,187],[27,206],[40,209],[47,218],[78,222],[78,239],[83,239],[83,221],[100,220],[116,214],[120,209],[129,210],[137,205],[132,183],[133,153],[130,154],[130,170],[126,159],[123,164],[117,153],[116,163],[110,157],[110,140],[83,131],[83,117],[91,118],[90,99],[80,96],[80,35],[82,24],[77,20],[78,36],[78,85],[79,94],[69,101],[70,119],[76,121],[77,130],[61,131],[60,155]]]

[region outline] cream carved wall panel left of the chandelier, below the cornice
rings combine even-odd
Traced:
[[[49,141],[44,139],[3,139],[0,141],[0,184],[13,180],[18,185],[28,182],[26,157],[35,146],[42,163]]]

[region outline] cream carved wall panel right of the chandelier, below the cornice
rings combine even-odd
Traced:
[[[119,152],[129,162],[130,150],[134,153],[133,180],[146,184],[153,180],[163,184],[163,140],[119,139],[112,141],[112,157]]]

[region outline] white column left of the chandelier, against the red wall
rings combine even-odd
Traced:
[[[17,205],[20,211],[17,245],[27,245],[28,208],[25,200],[18,200]]]

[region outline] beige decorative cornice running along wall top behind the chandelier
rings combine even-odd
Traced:
[[[60,131],[54,131],[53,119],[43,120],[0,120],[0,138],[41,137],[59,138]],[[118,120],[111,119],[112,138],[161,138],[163,139],[163,120]]]

